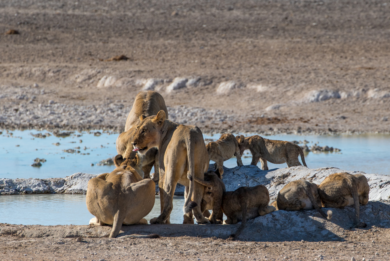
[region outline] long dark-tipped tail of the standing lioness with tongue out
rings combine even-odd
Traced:
[[[187,147],[187,159],[188,159],[187,178],[190,180],[190,188],[188,189],[187,198],[184,201],[184,206],[183,206],[184,214],[189,213],[193,208],[195,208],[198,205],[195,201],[191,201],[191,197],[195,185],[195,153],[193,151],[194,148],[190,139],[186,139],[186,147]]]

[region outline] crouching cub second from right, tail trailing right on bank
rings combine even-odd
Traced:
[[[285,185],[271,205],[287,211],[315,208],[325,219],[332,219],[332,210],[328,210],[328,215],[321,210],[318,185],[307,180],[294,180]]]

